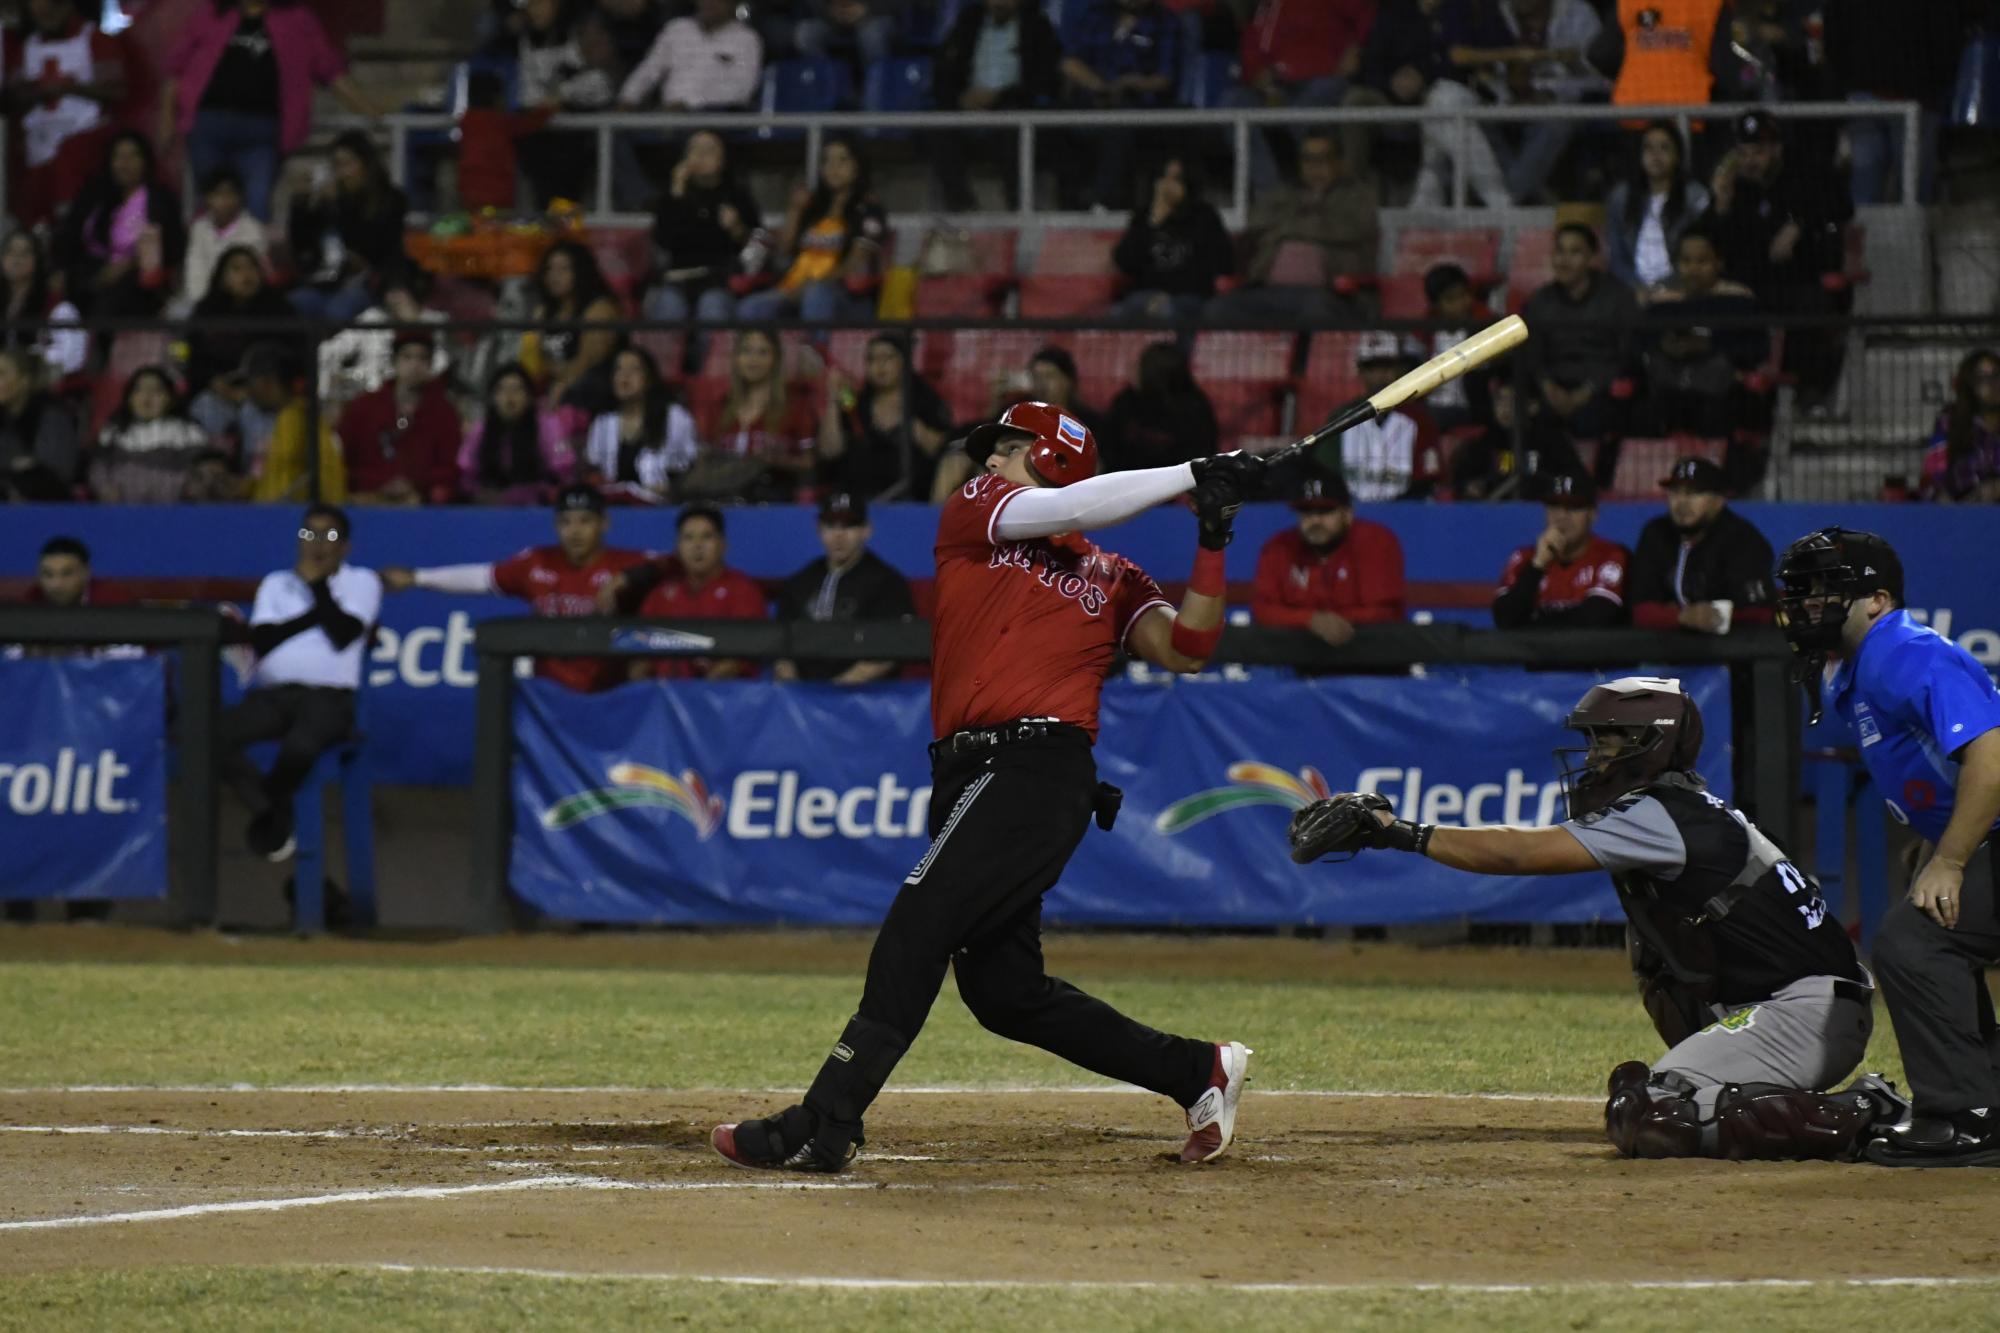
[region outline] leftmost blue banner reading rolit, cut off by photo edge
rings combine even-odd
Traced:
[[[0,660],[0,899],[166,897],[166,658]]]

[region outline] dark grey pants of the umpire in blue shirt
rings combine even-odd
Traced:
[[[1958,929],[1910,899],[1882,917],[1874,971],[1922,1115],[2000,1107],[2000,1025],[1986,969],[2000,965],[2000,857],[1988,839],[1966,863]]]

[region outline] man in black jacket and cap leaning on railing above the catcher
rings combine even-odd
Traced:
[[[1682,458],[1660,486],[1666,512],[1640,528],[1632,552],[1632,624],[1726,634],[1738,620],[1770,620],[1770,542],[1730,512],[1722,468]]]

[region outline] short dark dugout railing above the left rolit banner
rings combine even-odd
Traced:
[[[210,925],[216,915],[216,723],[222,715],[226,618],[194,606],[4,606],[0,644],[28,652],[88,654],[114,644],[170,652],[168,717],[168,921]],[[4,853],[0,853],[4,857]]]

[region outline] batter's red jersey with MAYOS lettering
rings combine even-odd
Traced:
[[[1022,717],[1098,735],[1098,693],[1138,618],[1168,606],[1146,570],[1086,540],[1000,538],[1026,486],[976,476],[938,518],[930,725],[940,737]]]

